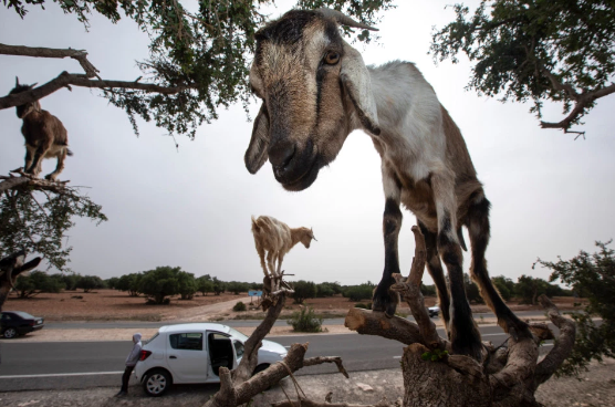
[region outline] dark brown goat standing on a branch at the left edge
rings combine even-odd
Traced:
[[[22,85],[15,77],[15,87],[10,95],[30,91],[37,84]],[[55,180],[64,169],[64,159],[72,156],[69,149],[69,134],[58,117],[43,111],[39,101],[29,102],[17,106],[17,116],[23,121],[21,134],[25,138],[25,164],[23,170],[38,176],[41,174],[43,158],[58,158],[55,170],[45,176],[46,179]]]

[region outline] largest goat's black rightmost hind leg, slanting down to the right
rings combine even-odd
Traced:
[[[490,226],[489,226],[489,208],[491,204],[484,197],[482,191],[476,192],[471,198],[472,202],[468,208],[466,217],[466,226],[470,233],[472,247],[472,263],[470,265],[470,274],[480,289],[482,299],[487,305],[493,311],[498,317],[500,325],[507,333],[518,340],[519,337],[531,337],[529,326],[507,306],[500,293],[493,286],[489,272],[487,271],[487,260],[484,252],[489,244]]]

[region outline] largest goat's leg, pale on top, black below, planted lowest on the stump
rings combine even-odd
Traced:
[[[451,173],[431,176],[431,188],[438,215],[438,252],[448,270],[450,281],[450,342],[456,354],[482,358],[478,326],[472,319],[463,286],[463,254],[457,236],[457,198]]]

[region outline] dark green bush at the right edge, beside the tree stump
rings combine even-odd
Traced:
[[[593,254],[581,251],[571,260],[536,261],[551,269],[551,281],[559,280],[588,300],[584,312],[572,314],[576,341],[571,356],[557,371],[561,375],[577,375],[587,369],[592,359],[615,357],[615,252],[608,248],[611,242],[596,242],[600,250]],[[600,316],[601,324],[596,325],[592,316]]]

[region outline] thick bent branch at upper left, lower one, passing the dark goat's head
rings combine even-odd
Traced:
[[[136,91],[144,91],[149,93],[160,93],[164,95],[171,95],[179,93],[189,88],[189,86],[160,86],[153,83],[140,83],[137,81],[126,82],[126,81],[105,81],[105,80],[90,80],[85,75],[62,72],[55,79],[49,81],[48,83],[34,87],[31,91],[21,92],[14,95],[7,95],[0,97],[0,109],[20,106],[29,102],[34,102],[52,93],[59,91],[62,87],[70,85],[90,87],[90,88],[132,88]]]

